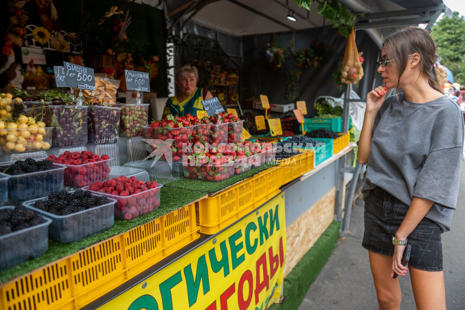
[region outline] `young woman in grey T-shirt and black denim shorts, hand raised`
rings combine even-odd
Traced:
[[[381,310],[400,309],[407,270],[417,309],[446,309],[441,234],[456,209],[464,119],[439,85],[435,53],[425,29],[391,34],[377,63],[385,85],[366,96],[358,150],[359,162],[368,163],[362,246]],[[403,93],[386,98],[391,88]],[[408,268],[401,263],[407,245]]]

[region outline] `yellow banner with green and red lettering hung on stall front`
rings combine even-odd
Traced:
[[[284,195],[98,310],[256,310],[282,295]]]

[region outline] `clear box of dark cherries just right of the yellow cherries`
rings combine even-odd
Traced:
[[[53,127],[52,148],[67,148],[87,143],[87,106],[42,106],[26,109],[27,116]]]

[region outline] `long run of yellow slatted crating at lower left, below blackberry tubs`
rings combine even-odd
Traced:
[[[0,285],[0,310],[80,309],[199,238],[192,203]]]

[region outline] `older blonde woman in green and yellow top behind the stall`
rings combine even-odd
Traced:
[[[175,81],[179,88],[179,94],[166,101],[165,115],[183,116],[189,113],[195,116],[197,111],[204,109],[200,102],[213,98],[208,89],[197,87],[199,72],[194,66],[180,67],[176,71]]]

